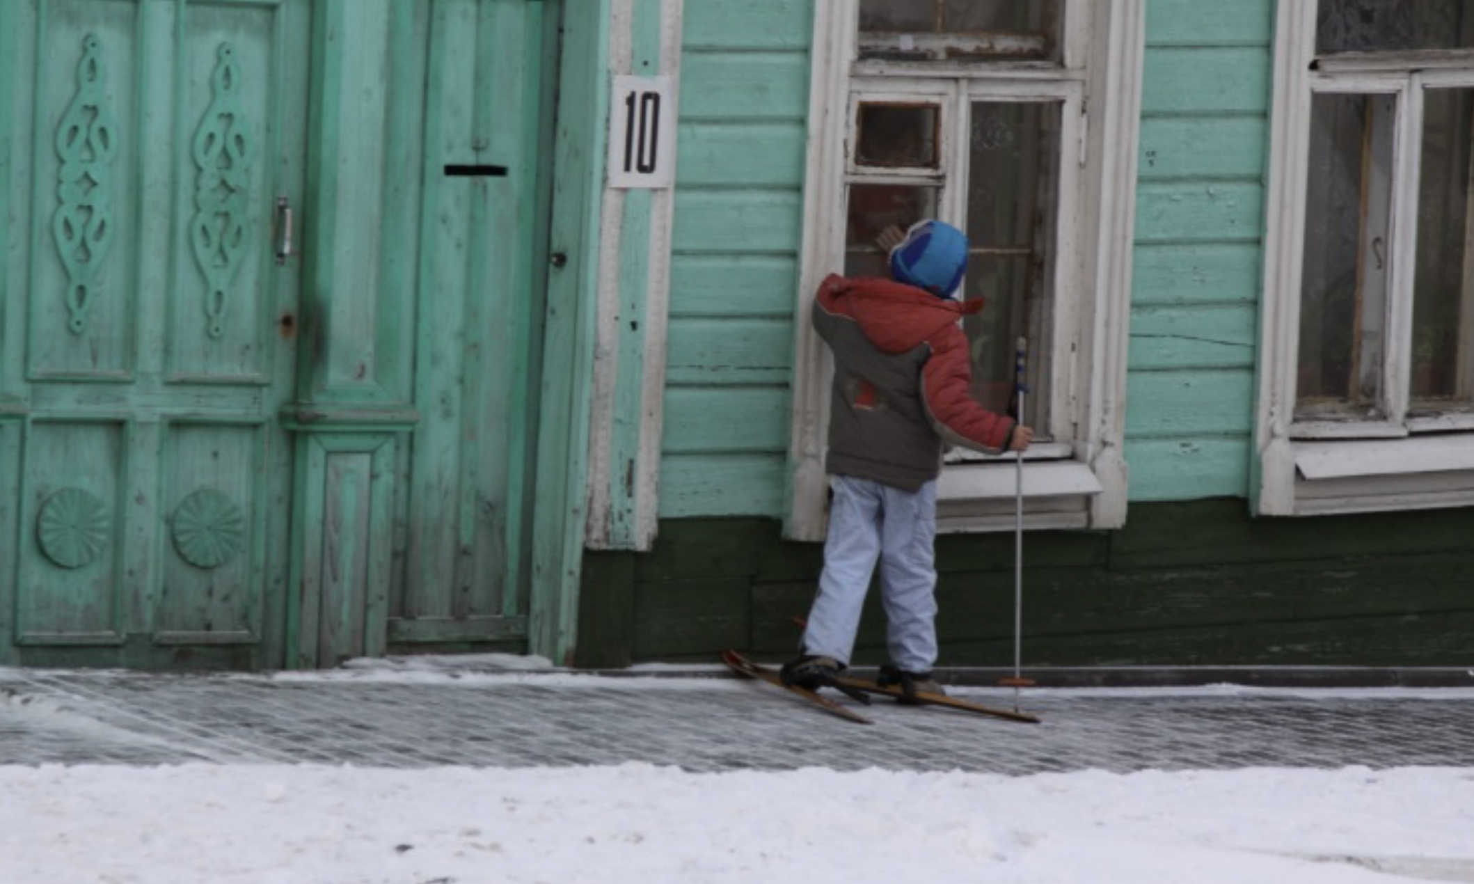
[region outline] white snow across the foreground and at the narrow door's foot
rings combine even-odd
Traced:
[[[0,766],[0,884],[971,881],[1474,883],[1474,768]]]

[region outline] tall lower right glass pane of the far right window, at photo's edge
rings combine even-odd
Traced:
[[[1424,93],[1418,264],[1412,309],[1414,405],[1470,404],[1474,255],[1470,230],[1474,90]]]

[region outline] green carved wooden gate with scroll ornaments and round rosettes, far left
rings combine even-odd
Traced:
[[[310,18],[0,10],[13,660],[283,662]]]

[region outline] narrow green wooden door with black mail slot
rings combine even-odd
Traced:
[[[528,650],[556,35],[529,0],[416,4],[420,127],[404,572],[388,647]]]

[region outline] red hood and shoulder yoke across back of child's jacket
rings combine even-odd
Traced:
[[[914,286],[880,278],[831,276],[820,286],[830,312],[850,317],[876,349],[901,354],[948,324],[983,308],[983,301],[945,301]]]

